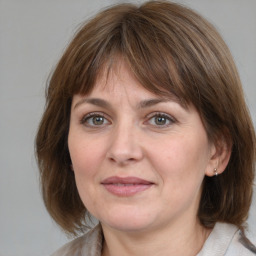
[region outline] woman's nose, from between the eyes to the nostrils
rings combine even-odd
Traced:
[[[143,158],[139,128],[131,125],[119,125],[113,129],[107,157],[118,165],[128,165]]]

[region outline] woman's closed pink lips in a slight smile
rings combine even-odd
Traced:
[[[130,197],[151,188],[154,183],[137,177],[109,177],[101,182],[104,188],[120,197]]]

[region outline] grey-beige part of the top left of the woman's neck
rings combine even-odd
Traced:
[[[65,244],[51,256],[100,256],[102,248],[101,226],[87,232],[85,235]]]

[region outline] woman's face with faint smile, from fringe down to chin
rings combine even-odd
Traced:
[[[163,99],[125,63],[75,95],[68,146],[80,197],[102,225],[146,231],[196,220],[215,147],[198,112]]]

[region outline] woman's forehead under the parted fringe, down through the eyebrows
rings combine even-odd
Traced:
[[[121,107],[128,103],[136,109],[143,109],[170,101],[182,106],[180,100],[171,93],[160,96],[146,89],[136,79],[129,66],[125,62],[121,62],[117,68],[105,71],[98,76],[90,93],[75,95],[73,106],[76,108],[87,103],[103,108],[112,108],[111,106]]]

